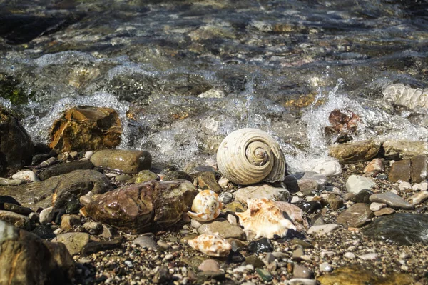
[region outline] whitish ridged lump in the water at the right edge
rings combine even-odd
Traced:
[[[428,89],[413,89],[404,84],[392,84],[383,90],[383,95],[385,100],[392,101],[396,105],[410,109],[428,108]]]

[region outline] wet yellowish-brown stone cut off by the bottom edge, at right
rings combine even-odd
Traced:
[[[410,274],[393,273],[382,278],[374,274],[374,270],[363,269],[360,266],[349,266],[335,269],[332,274],[317,277],[321,285],[410,285],[413,277]]]

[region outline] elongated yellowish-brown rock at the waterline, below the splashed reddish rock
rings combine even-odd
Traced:
[[[346,144],[334,144],[329,147],[330,156],[342,163],[367,161],[372,159],[380,149],[376,141],[357,141]]]

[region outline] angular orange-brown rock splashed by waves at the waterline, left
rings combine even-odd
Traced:
[[[121,120],[113,109],[78,106],[54,122],[49,146],[59,151],[111,149],[120,144],[121,134]]]

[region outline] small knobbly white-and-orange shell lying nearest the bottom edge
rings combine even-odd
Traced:
[[[208,256],[228,256],[232,246],[223,237],[215,234],[200,234],[195,239],[188,240],[188,244]]]

